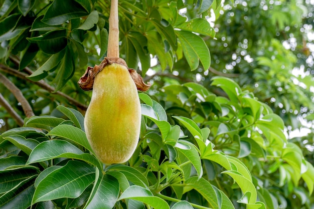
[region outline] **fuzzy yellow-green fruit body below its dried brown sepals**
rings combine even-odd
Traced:
[[[105,164],[126,162],[140,131],[140,102],[128,69],[106,65],[97,73],[84,125],[96,156]]]

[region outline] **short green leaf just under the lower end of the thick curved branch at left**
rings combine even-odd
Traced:
[[[43,115],[43,116],[33,116],[30,117],[26,122],[25,126],[34,127],[34,128],[41,128],[50,131],[51,127],[56,127],[60,123],[65,121],[62,118],[57,118],[50,115]]]

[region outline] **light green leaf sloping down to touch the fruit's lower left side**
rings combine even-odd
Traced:
[[[61,124],[52,129],[49,133],[47,133],[47,136],[58,136],[70,139],[71,141],[74,141],[75,143],[82,145],[83,147],[85,147],[86,149],[93,153],[93,150],[87,141],[85,132],[77,127]]]

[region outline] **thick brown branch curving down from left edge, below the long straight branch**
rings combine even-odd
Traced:
[[[35,115],[30,103],[24,97],[22,91],[12,81],[10,81],[6,76],[0,74],[0,82],[3,83],[21,103],[26,117],[29,118]]]

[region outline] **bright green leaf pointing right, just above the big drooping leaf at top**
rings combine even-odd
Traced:
[[[204,36],[215,37],[215,30],[210,26],[207,20],[201,18],[196,18],[188,22],[184,22],[183,24],[179,25],[178,28],[184,31],[198,33]]]

